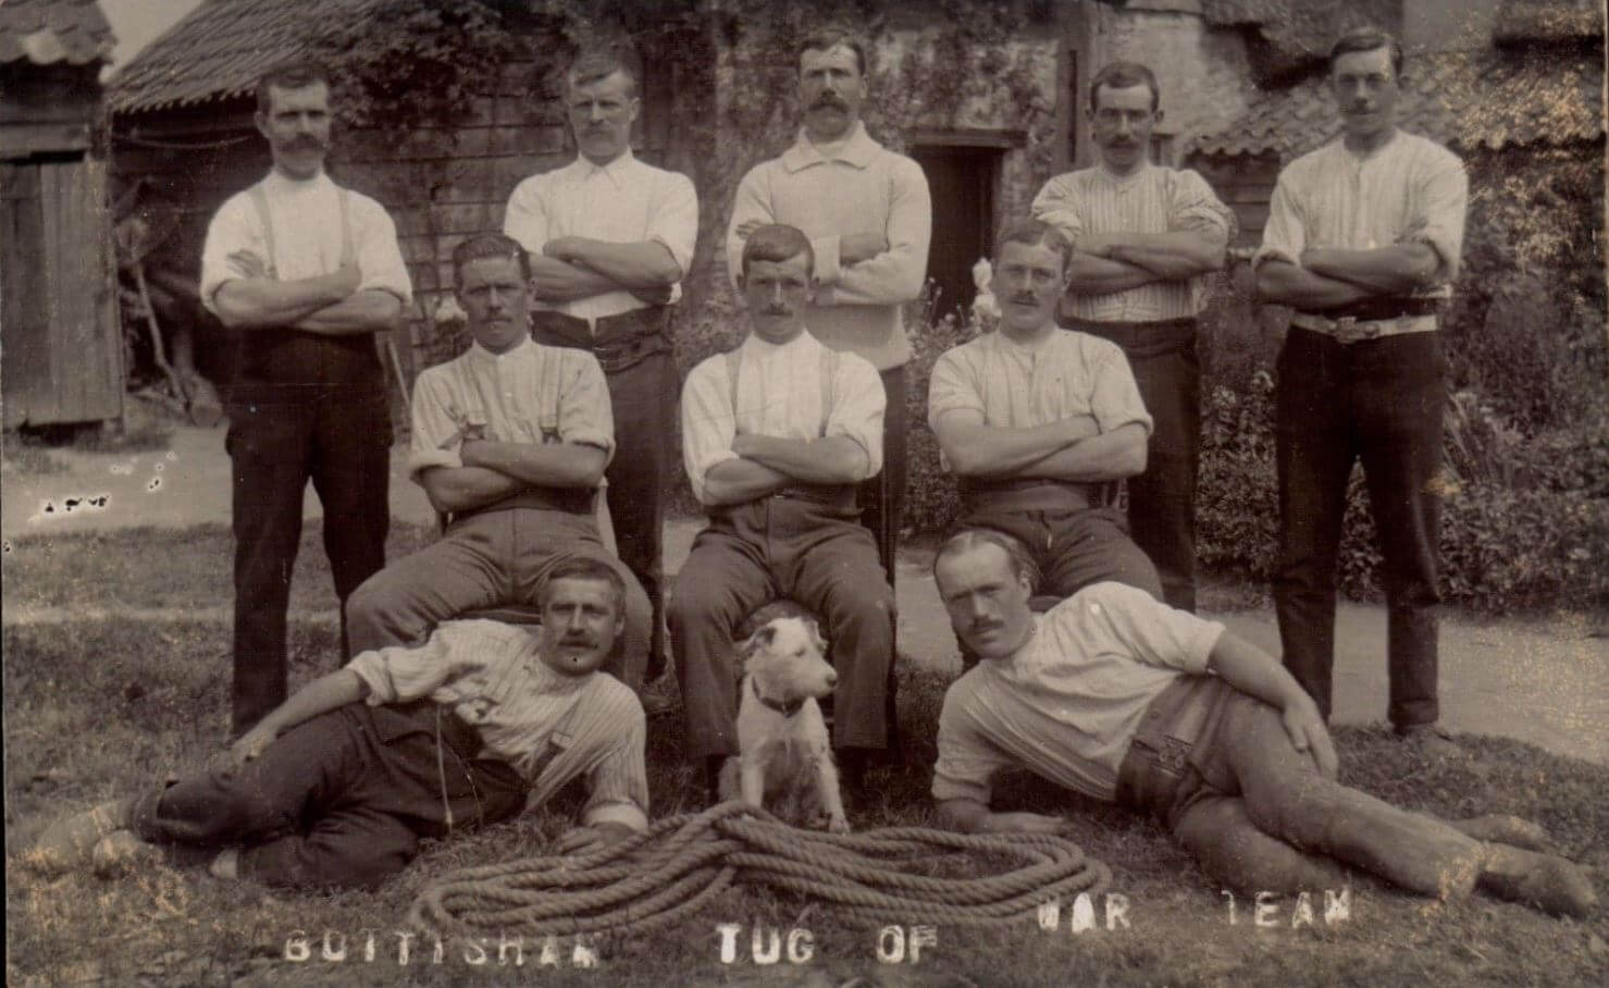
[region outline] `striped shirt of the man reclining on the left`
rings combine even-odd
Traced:
[[[497,621],[446,621],[423,645],[362,652],[346,668],[368,687],[370,706],[423,698],[451,706],[526,780],[526,806],[586,776],[587,824],[647,827],[645,718],[637,695],[608,673],[557,673],[537,639]]]

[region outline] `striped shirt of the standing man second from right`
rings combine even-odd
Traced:
[[[1171,233],[1212,228],[1229,235],[1232,214],[1199,174],[1147,164],[1117,177],[1105,167],[1065,172],[1033,198],[1033,216],[1073,238],[1091,233]],[[1088,322],[1147,322],[1197,315],[1212,275],[1150,282],[1107,294],[1068,291],[1062,312]]]

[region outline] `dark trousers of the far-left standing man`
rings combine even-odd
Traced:
[[[256,394],[237,388],[224,446],[235,484],[233,731],[240,734],[285,702],[285,611],[309,480],[323,505],[341,653],[349,655],[346,599],[386,562],[391,410],[383,388],[282,385]]]

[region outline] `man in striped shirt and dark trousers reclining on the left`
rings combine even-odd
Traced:
[[[539,637],[454,621],[420,647],[362,652],[204,772],[66,817],[29,859],[60,872],[171,856],[209,859],[220,879],[373,885],[420,837],[508,819],[581,774],[591,840],[623,840],[648,808],[642,706],[597,671],[623,600],[608,565],[560,563],[539,595]]]

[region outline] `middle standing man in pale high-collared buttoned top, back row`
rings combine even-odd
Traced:
[[[800,45],[798,68],[804,126],[792,148],[739,183],[726,233],[727,272],[737,285],[743,243],[763,224],[787,224],[809,237],[819,288],[804,322],[821,343],[870,360],[888,396],[883,468],[861,484],[859,507],[893,581],[911,360],[899,306],[922,294],[933,204],[922,167],[866,134],[862,43],[842,31],[813,34]]]

